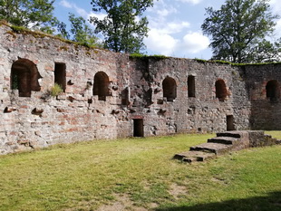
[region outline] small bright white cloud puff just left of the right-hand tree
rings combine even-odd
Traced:
[[[207,36],[200,33],[189,33],[183,37],[185,52],[199,53],[208,48],[209,40]]]

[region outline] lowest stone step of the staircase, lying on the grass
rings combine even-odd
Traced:
[[[192,163],[196,161],[204,161],[208,158],[215,158],[215,153],[204,152],[204,151],[187,151],[176,154],[174,159],[179,159],[184,162]]]

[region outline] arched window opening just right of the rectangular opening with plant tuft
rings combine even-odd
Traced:
[[[93,79],[93,95],[98,95],[99,101],[105,101],[110,96],[110,80],[105,72],[97,72]]]

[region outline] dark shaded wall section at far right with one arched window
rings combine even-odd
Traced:
[[[251,129],[281,129],[280,71],[280,63],[245,67]]]

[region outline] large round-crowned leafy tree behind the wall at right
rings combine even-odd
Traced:
[[[206,9],[201,25],[211,35],[213,59],[229,62],[265,62],[277,57],[277,44],[266,41],[279,16],[270,12],[268,0],[226,0],[219,10]]]

